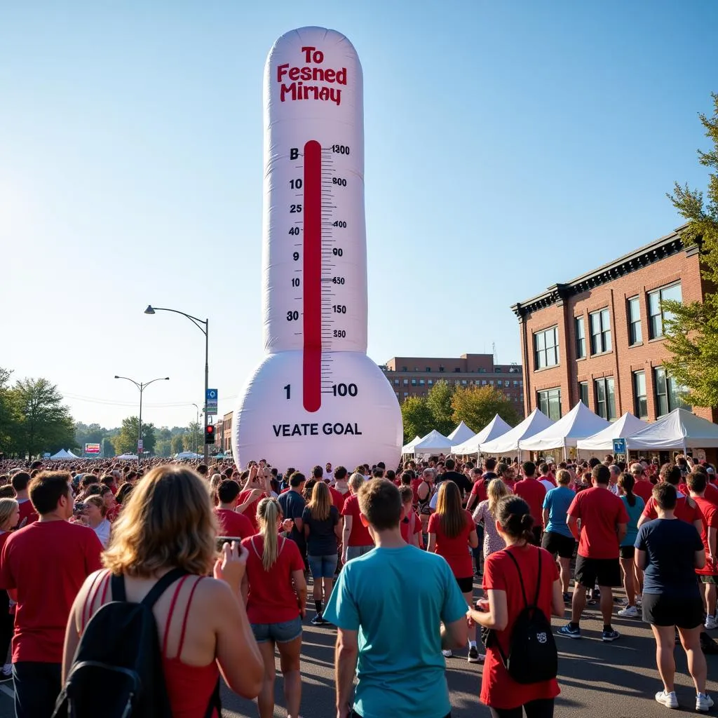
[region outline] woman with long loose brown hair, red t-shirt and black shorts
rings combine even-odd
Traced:
[[[467,605],[472,605],[474,592],[474,567],[469,548],[479,545],[476,526],[471,514],[462,508],[461,492],[453,481],[439,485],[437,510],[429,518],[429,546],[432,554],[444,556],[452,569],[459,589]],[[442,651],[446,658],[453,654]],[[481,663],[483,656],[476,645],[476,628],[469,628],[469,663]]]

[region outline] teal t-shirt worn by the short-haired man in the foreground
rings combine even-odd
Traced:
[[[465,617],[449,564],[416,546],[374,549],[339,574],[324,617],[359,632],[354,710],[363,718],[451,711],[439,621]]]

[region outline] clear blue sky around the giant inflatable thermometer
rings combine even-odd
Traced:
[[[80,1],[0,18],[0,365],[119,424],[233,409],[262,357],[261,82],[289,29],[364,70],[369,355],[519,358],[510,304],[668,233],[704,187],[718,5]]]

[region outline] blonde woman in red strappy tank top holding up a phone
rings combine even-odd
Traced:
[[[106,570],[91,574],[75,599],[65,632],[62,681],[95,612],[114,595],[139,603],[169,583],[152,605],[162,668],[174,718],[218,717],[220,672],[246,698],[261,689],[264,666],[241,600],[247,553],[224,544],[202,477],[189,467],[162,465],[136,485],[103,554]],[[212,578],[212,574],[214,577]],[[172,580],[174,579],[174,581]]]

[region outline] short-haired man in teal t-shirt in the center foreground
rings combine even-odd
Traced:
[[[337,626],[337,717],[448,718],[442,649],[466,644],[466,602],[442,556],[401,538],[391,481],[366,482],[358,500],[376,549],[343,567],[324,612]]]

